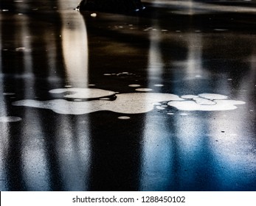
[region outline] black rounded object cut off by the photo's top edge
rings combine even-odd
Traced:
[[[105,13],[134,13],[144,9],[140,0],[82,0],[77,6],[77,10]]]

